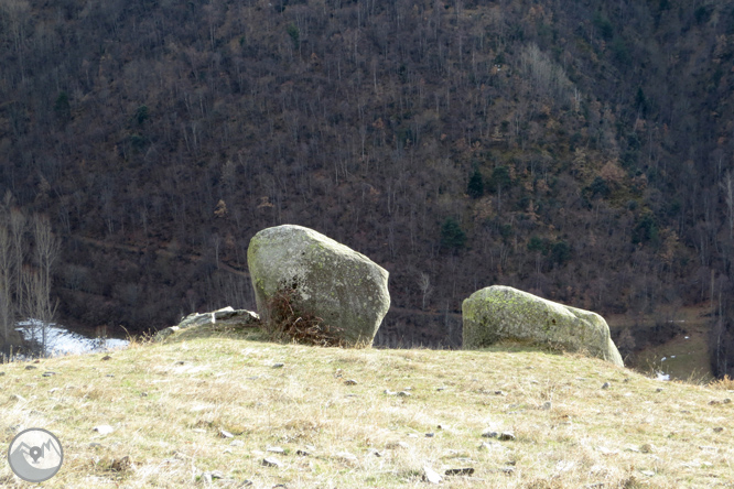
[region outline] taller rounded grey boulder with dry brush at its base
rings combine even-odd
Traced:
[[[390,307],[388,272],[361,253],[302,226],[263,229],[252,237],[247,264],[258,312],[268,323],[273,297],[323,319],[345,345],[371,345]]]

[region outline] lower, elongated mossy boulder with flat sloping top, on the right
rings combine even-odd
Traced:
[[[465,349],[516,340],[582,351],[624,367],[609,327],[596,313],[493,285],[466,298],[462,316]]]

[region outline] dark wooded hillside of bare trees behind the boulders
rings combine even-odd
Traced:
[[[713,297],[734,370],[732,1],[0,0],[0,192],[66,323],[251,306],[290,222],[389,270],[384,343],[455,344],[495,283]]]

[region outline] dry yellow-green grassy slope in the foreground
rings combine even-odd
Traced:
[[[659,382],[579,356],[320,349],[187,330],[0,371],[0,442],[44,427],[63,444],[50,488],[408,488],[430,486],[427,466],[452,488],[734,478],[734,384]],[[271,457],[282,466],[265,466]],[[7,464],[0,483],[25,487]]]

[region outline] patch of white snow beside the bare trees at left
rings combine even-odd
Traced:
[[[17,330],[23,334],[26,341],[35,340],[39,344],[43,340],[43,323],[37,319],[21,320],[17,324]],[[55,324],[46,326],[46,348],[45,352],[50,357],[62,355],[79,355],[96,351],[107,351],[114,348],[123,348],[128,346],[127,339],[117,338],[87,338],[78,333],[72,333],[68,329]]]

